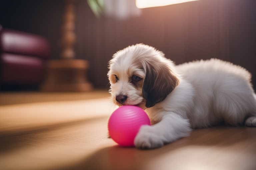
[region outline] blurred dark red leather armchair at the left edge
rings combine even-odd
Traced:
[[[44,79],[50,45],[44,37],[0,25],[0,85],[38,86]]]

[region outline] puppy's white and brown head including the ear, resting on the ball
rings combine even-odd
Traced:
[[[116,105],[143,109],[163,101],[179,83],[173,62],[145,44],[117,51],[109,61],[108,78]]]

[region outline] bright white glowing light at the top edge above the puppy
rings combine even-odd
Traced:
[[[198,0],[136,0],[137,8],[159,7]]]

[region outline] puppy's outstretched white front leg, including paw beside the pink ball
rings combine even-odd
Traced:
[[[168,113],[159,123],[142,126],[134,139],[134,144],[137,148],[157,148],[188,136],[190,131],[189,120],[175,113]]]

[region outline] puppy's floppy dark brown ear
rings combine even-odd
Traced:
[[[172,74],[167,65],[159,64],[153,66],[148,63],[142,87],[143,97],[146,99],[146,107],[153,107],[156,103],[163,101],[178,84],[178,77]]]

